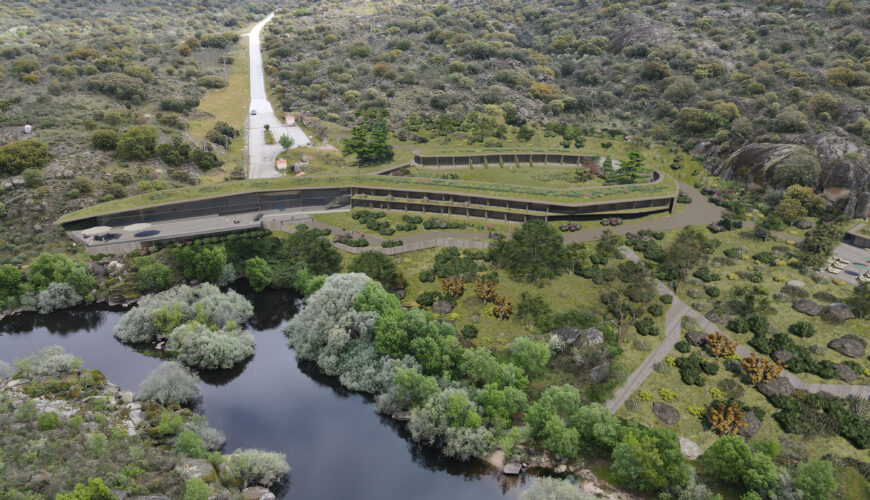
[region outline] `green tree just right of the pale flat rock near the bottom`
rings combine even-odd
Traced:
[[[722,436],[700,457],[713,477],[750,490],[770,488],[779,483],[773,460],[761,452],[753,453],[740,436]]]

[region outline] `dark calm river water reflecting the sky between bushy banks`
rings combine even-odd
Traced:
[[[244,292],[244,290],[240,290]],[[263,448],[287,454],[293,470],[279,497],[298,499],[501,499],[528,484],[500,478],[480,463],[440,457],[414,444],[404,428],[378,415],[371,401],[297,362],[281,324],[296,313],[281,291],[246,293],[255,319],[256,354],[244,366],[204,373],[200,411],[227,435],[225,451]],[[0,360],[12,362],[59,344],[136,391],[160,363],[112,337],[123,310],[81,307],[0,322]]]

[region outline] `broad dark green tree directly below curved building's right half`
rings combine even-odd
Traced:
[[[532,283],[557,276],[567,260],[559,232],[542,219],[524,222],[510,240],[497,240],[490,257],[511,274]]]

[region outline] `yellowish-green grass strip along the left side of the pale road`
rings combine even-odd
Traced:
[[[229,84],[222,89],[209,90],[196,108],[200,116],[188,121],[187,133],[198,143],[205,139],[205,134],[219,121],[232,125],[242,133],[232,142],[228,151],[223,151],[221,147],[215,148],[218,157],[224,161],[224,166],[205,173],[201,177],[204,184],[223,182],[225,174],[241,166],[243,162],[245,117],[248,103],[251,101],[247,40],[246,37],[242,37],[239,43],[233,46],[231,51],[233,64],[227,68]]]

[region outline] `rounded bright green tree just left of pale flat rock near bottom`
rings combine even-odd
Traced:
[[[669,429],[629,431],[613,448],[610,471],[620,483],[655,492],[689,477],[677,436]]]

